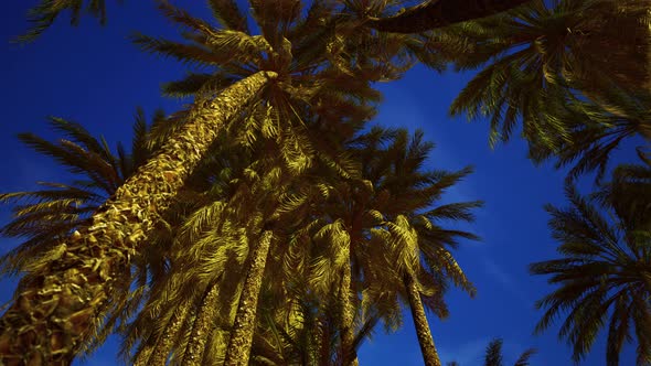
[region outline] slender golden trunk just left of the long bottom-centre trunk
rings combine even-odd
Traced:
[[[220,301],[220,287],[217,281],[211,283],[201,303],[201,309],[194,319],[190,341],[185,346],[182,365],[200,366],[203,360],[203,353],[212,330],[212,323],[217,316],[217,303]]]

